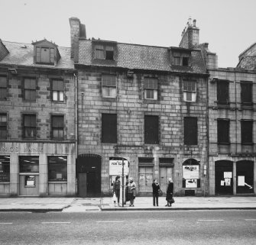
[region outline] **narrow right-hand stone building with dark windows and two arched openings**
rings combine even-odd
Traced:
[[[216,60],[207,68],[209,195],[255,195],[256,44],[235,68],[218,68]]]

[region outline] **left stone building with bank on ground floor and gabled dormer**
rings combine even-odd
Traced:
[[[0,40],[0,195],[76,195],[70,48]]]

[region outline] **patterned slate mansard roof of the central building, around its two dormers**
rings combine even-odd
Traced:
[[[79,40],[78,64],[181,73],[206,73],[201,50],[192,51],[191,67],[171,66],[168,47],[117,43],[115,56],[115,61],[95,60],[92,57],[92,40]]]

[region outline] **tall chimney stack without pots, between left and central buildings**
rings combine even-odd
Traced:
[[[70,18],[70,40],[71,40],[71,53],[70,57],[75,62],[78,61],[79,37],[86,38],[86,26],[81,24],[79,18]]]

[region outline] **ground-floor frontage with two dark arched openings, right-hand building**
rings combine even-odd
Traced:
[[[209,195],[256,195],[255,156],[209,156]]]

